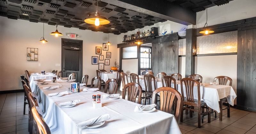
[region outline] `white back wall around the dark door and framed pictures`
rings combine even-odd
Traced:
[[[56,38],[50,35],[56,27],[44,24],[44,38],[48,43],[39,42],[43,36],[43,23],[33,23],[27,20],[14,20],[0,17],[1,50],[0,50],[0,91],[23,89],[20,82],[20,75],[25,76],[24,70],[29,72],[40,72],[58,70],[56,63],[61,63],[61,38],[68,38],[68,33],[76,33],[80,36],[77,40],[83,40],[83,75],[89,75],[88,84],[96,76],[98,65],[92,65],[92,56],[95,54],[95,47],[102,47],[102,43],[108,42],[108,34],[80,30],[78,28],[67,28],[58,26],[58,31],[63,34]],[[110,34],[108,52],[111,52],[110,65],[105,70],[114,66],[115,60],[119,61],[119,50],[117,48],[117,35]],[[27,61],[27,48],[38,48],[38,61]],[[106,52],[102,51],[104,60]],[[38,66],[38,63],[41,66]],[[104,61],[99,61],[104,63]]]

